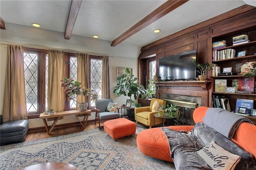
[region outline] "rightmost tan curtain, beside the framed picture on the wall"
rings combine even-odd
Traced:
[[[102,56],[102,99],[110,98],[110,86],[109,86],[109,57]]]

